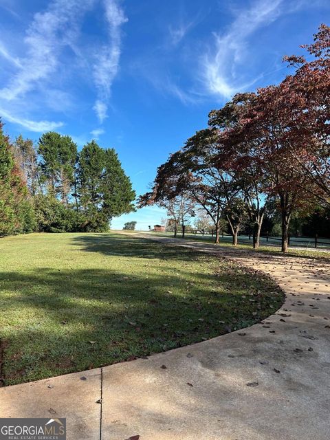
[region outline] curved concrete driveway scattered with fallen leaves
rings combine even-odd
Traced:
[[[329,440],[330,264],[174,243],[263,270],[285,304],[244,336],[0,388],[0,417],[67,417],[69,440]]]

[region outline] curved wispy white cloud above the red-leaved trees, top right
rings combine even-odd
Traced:
[[[215,50],[201,59],[202,80],[211,94],[230,98],[250,87],[257,78],[242,83],[235,67],[247,53],[247,40],[256,30],[283,14],[283,0],[257,0],[248,10],[240,10],[225,34],[214,34]]]

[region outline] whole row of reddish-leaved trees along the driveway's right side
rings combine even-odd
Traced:
[[[285,57],[295,72],[279,85],[236,94],[212,110],[208,127],[159,166],[139,206],[167,208],[175,230],[185,210],[203,210],[216,243],[225,221],[234,245],[245,228],[254,248],[265,223],[280,223],[283,252],[299,219],[300,233],[329,231],[330,28],[321,25],[303,47],[311,61]]]

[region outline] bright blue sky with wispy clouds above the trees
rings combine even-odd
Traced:
[[[211,109],[281,81],[329,18],[328,0],[0,0],[0,116],[11,137],[114,147],[140,195]]]

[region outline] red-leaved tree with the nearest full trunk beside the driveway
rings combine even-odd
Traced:
[[[264,191],[278,196],[282,217],[282,251],[287,251],[293,212],[313,198],[306,190],[307,176],[297,170],[292,151],[305,142],[296,122],[297,96],[287,83],[259,89],[246,103],[239,123],[225,132],[225,140],[254,163],[261,164]]]

